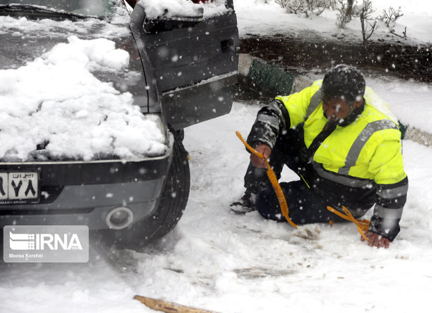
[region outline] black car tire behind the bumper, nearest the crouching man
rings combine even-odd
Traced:
[[[137,250],[168,234],[185,211],[190,191],[190,170],[187,152],[178,132],[174,136],[173,159],[167,174],[160,203],[148,218],[132,223],[124,230],[100,230],[97,238],[105,246]]]

